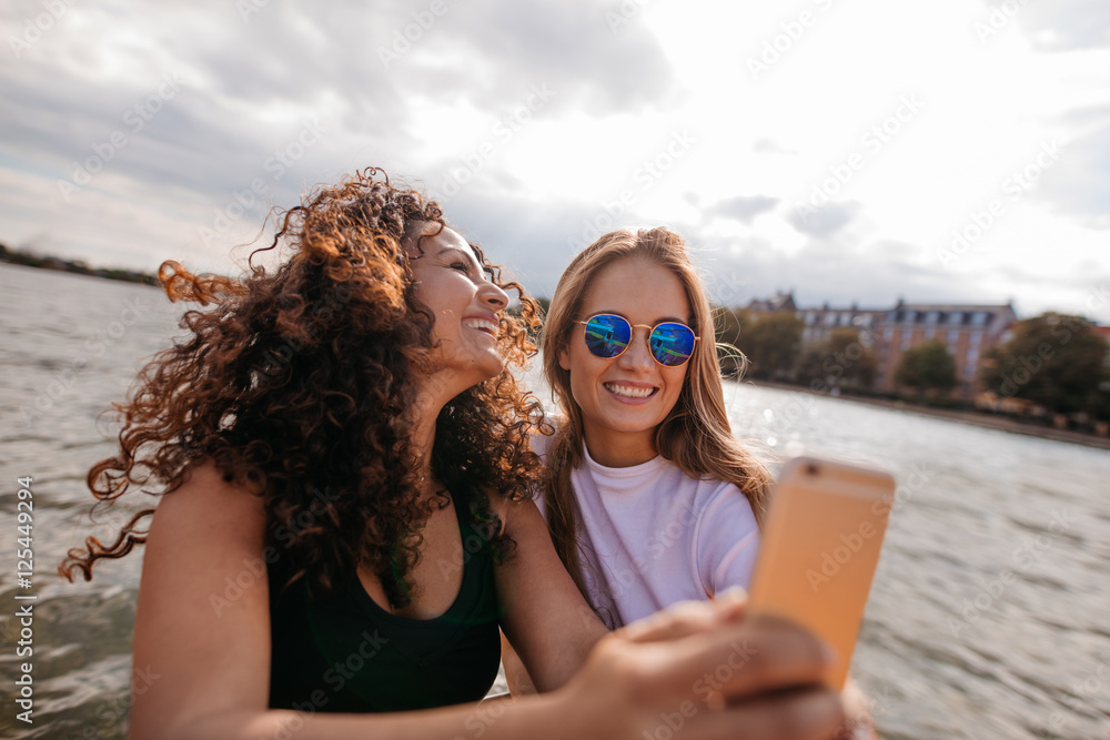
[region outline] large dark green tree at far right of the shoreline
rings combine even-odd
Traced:
[[[1101,414],[1106,356],[1106,339],[1089,321],[1048,313],[1018,322],[1009,342],[987,352],[979,379],[1000,396],[1057,414]]]

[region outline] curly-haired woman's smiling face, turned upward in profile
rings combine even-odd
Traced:
[[[428,222],[417,233],[434,234],[438,229]],[[458,377],[463,385],[457,393],[501,373],[498,314],[508,305],[508,296],[487,280],[471,245],[444,229],[424,236],[418,247],[413,236],[406,251],[416,300],[435,317],[436,367]]]

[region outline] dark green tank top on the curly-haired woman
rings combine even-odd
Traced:
[[[463,541],[463,581],[435,619],[390,614],[355,576],[331,596],[309,599],[303,582],[281,586],[270,567],[270,707],[386,712],[481,700],[501,663],[493,558],[451,491]]]

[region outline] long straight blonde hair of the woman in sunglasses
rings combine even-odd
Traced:
[[[586,599],[577,530],[581,519],[571,473],[583,464],[582,408],[571,393],[571,372],[559,366],[559,352],[571,341],[582,301],[597,273],[625,257],[648,259],[678,278],[690,305],[689,324],[702,337],[690,357],[686,379],[674,408],[655,429],[655,449],[695,479],[735,484],[747,497],[757,519],[763,518],[770,472],[733,437],[720,382],[713,308],[705,286],[678,234],[663,227],[609,232],[571,262],[559,278],[544,321],[544,377],[565,417],[548,445],[542,486],[547,528],[563,565]],[[595,609],[598,605],[594,605]]]

